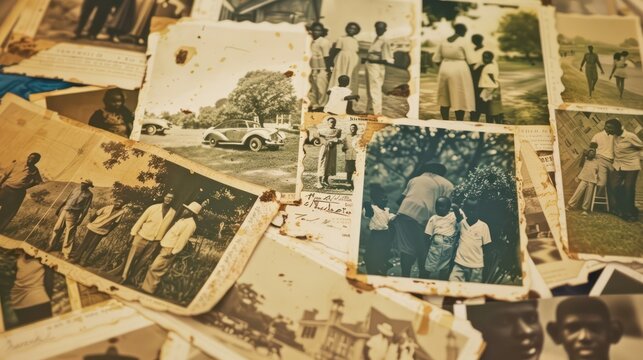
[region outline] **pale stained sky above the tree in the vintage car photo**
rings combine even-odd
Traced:
[[[179,49],[193,53],[185,64],[176,63]],[[248,71],[264,69],[292,71],[296,95],[303,98],[307,54],[303,24],[179,23],[160,36],[139,106],[154,114],[198,112],[227,97]]]

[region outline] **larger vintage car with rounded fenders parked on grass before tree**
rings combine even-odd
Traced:
[[[242,145],[252,151],[264,146],[270,150],[284,146],[286,136],[277,129],[266,129],[256,121],[225,120],[203,132],[202,142],[217,145]]]

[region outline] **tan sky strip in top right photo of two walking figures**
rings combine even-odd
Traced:
[[[568,38],[582,36],[587,40],[619,45],[627,38],[639,40],[636,21],[633,18],[580,17],[558,14],[556,27]]]

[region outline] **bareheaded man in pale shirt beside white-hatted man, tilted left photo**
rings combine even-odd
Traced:
[[[160,241],[176,215],[171,207],[173,200],[174,194],[165,194],[163,202],[148,207],[132,227],[132,246],[125,261],[121,282],[131,282],[143,269],[147,259],[154,259],[158,254]]]

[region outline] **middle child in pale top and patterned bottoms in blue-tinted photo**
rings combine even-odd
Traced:
[[[426,224],[424,233],[429,243],[429,253],[424,268],[429,279],[446,280],[458,241],[459,223],[462,213],[451,199],[441,196],[435,201],[435,215]]]

